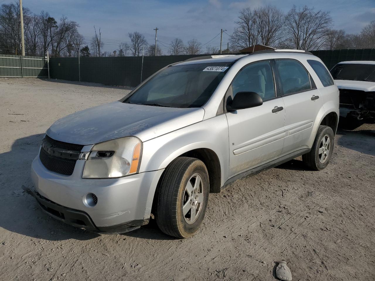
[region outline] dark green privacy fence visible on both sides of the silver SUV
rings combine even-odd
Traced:
[[[375,49],[342,49],[312,51],[321,58],[328,69],[340,61],[374,60]],[[199,55],[165,55],[157,57],[81,57],[51,58],[49,68],[51,78],[70,81],[95,82],[106,85],[136,87],[148,76],[178,61]]]

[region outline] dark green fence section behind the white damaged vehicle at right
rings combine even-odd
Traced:
[[[331,69],[340,61],[373,60],[375,61],[375,49],[341,49],[311,51],[319,57]]]

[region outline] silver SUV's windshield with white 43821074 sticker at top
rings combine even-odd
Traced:
[[[176,108],[201,107],[211,97],[230,65],[224,62],[168,67],[123,102]]]

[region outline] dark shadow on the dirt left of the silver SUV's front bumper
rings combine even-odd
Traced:
[[[0,154],[0,228],[50,241],[88,240],[98,234],[57,221],[39,209],[22,185],[32,186],[30,167],[44,134],[17,139],[10,151]]]

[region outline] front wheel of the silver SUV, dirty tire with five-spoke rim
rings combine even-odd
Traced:
[[[199,179],[199,186],[195,186]],[[165,169],[155,194],[155,219],[159,229],[177,238],[192,236],[203,221],[209,190],[207,168],[201,160],[190,157],[173,160]]]

